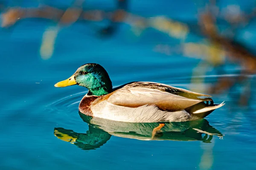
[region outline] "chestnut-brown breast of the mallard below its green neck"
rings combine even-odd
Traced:
[[[93,112],[90,109],[90,105],[94,100],[96,100],[99,96],[84,96],[79,104],[79,111],[88,116],[93,116]]]

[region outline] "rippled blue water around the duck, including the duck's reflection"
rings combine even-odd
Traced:
[[[193,3],[186,2],[185,6],[184,2],[177,3],[178,8],[184,9],[180,14],[168,2],[132,1],[129,5],[131,11],[145,17],[165,14],[195,22]],[[34,6],[34,3],[19,5]],[[142,5],[144,8],[140,8]],[[152,9],[156,5],[160,7]],[[107,6],[112,8],[113,2]],[[243,5],[249,7],[249,1]],[[61,28],[52,57],[44,59],[40,47],[49,26],[55,24],[31,19],[0,30],[1,170],[256,168],[253,75],[229,91],[212,94],[216,103],[225,101],[226,105],[206,119],[166,124],[153,140],[150,140],[151,130],[156,124],[92,119],[78,112],[86,88],[54,87],[80,65],[96,62],[108,71],[115,87],[131,81],[150,81],[210,94],[209,85],[220,77],[236,77],[240,66],[227,61],[225,73],[209,67],[206,73],[199,71],[201,74],[195,75],[193,71],[204,58],[159,51],[163,45],[176,47],[180,41],[204,43],[203,37],[188,34],[186,40],[179,40],[153,28],[138,37],[131,26],[121,24],[116,34],[102,39],[96,36],[92,25],[79,22]],[[255,31],[251,37],[245,37],[244,32],[251,28],[243,28],[236,37],[248,47],[254,45]],[[192,83],[192,78],[203,81]],[[239,105],[241,94],[249,87],[250,95],[246,94],[250,96],[249,102]]]

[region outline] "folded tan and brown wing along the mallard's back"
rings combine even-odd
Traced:
[[[198,103],[205,107],[204,101],[212,101],[210,98],[201,99],[199,96],[209,95],[155,82],[132,82],[95,102],[106,100],[113,105],[129,108],[155,105],[162,111],[181,111]]]

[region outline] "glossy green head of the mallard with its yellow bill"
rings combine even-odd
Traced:
[[[55,87],[80,85],[88,88],[89,93],[96,96],[112,92],[112,82],[107,71],[99,64],[88,63],[79,67],[68,79],[56,83]]]

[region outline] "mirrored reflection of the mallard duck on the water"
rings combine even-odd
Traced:
[[[54,128],[54,135],[65,142],[75,144],[83,150],[101,147],[111,136],[138,140],[202,141],[211,143],[213,136],[222,138],[220,131],[209,125],[206,119],[189,122],[168,122],[163,127],[159,123],[116,122],[108,119],[90,117],[79,113],[84,122],[89,124],[86,133],[76,133],[62,127]],[[156,130],[154,132],[154,130]]]

